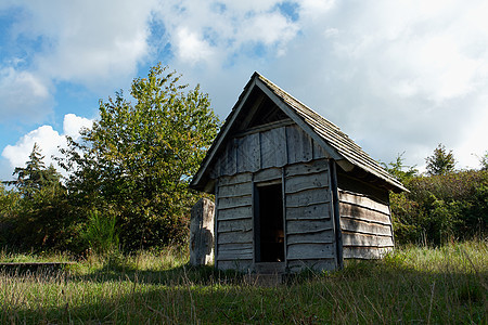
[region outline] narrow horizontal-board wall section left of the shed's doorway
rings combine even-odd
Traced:
[[[253,176],[221,177],[216,195],[216,266],[245,272],[253,264]]]

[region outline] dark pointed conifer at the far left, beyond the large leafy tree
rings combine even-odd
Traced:
[[[66,190],[61,174],[43,162],[40,147],[35,144],[25,167],[17,167],[17,179],[5,182],[14,185],[18,199],[3,219],[9,227],[8,245],[24,248],[66,248],[73,239],[73,227]]]

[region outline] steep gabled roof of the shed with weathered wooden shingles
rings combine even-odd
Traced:
[[[259,75],[254,73],[244,87],[232,112],[226,119],[219,134],[207,152],[200,170],[194,176],[190,186],[204,190],[208,180],[211,162],[217,157],[219,148],[226,143],[229,131],[236,122],[236,117],[255,88],[260,89],[274,104],[280,107],[294,122],[296,122],[310,138],[317,141],[337,164],[346,171],[360,169],[376,177],[395,192],[408,191],[401,182],[391,177],[376,160],[371,158],[362,148],[347,136],[338,127],[287,92]]]

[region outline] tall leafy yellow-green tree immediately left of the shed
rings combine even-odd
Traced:
[[[129,249],[165,245],[187,233],[200,194],[188,183],[219,128],[208,95],[179,82],[166,67],[100,103],[100,119],[69,140],[61,161],[80,206],[117,214],[120,242]],[[106,214],[106,213],[103,214]]]

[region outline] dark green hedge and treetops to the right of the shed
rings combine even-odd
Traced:
[[[397,244],[440,245],[488,234],[488,152],[479,170],[455,170],[452,151],[439,146],[426,158],[426,174],[403,166],[402,156],[385,166],[409,193],[390,194]]]

